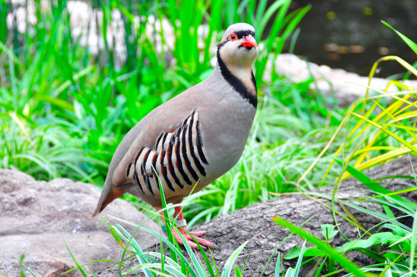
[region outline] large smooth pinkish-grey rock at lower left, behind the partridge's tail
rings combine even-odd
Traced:
[[[106,214],[92,218],[99,196],[100,190],[91,184],[63,178],[35,181],[23,172],[0,169],[0,272],[20,276],[18,259],[25,254],[23,264],[38,277],[60,276],[75,267],[65,242],[80,264],[120,261],[123,251],[99,219],[118,222],[107,214],[136,224],[145,222],[145,227],[160,232],[156,223],[121,199],[108,205]],[[129,232],[135,231],[126,225]],[[139,231],[139,235],[146,247],[156,243],[148,233]],[[110,265],[98,262],[88,268],[94,272]],[[81,275],[77,270],[65,276]]]

